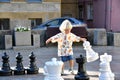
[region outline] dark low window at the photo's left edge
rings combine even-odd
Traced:
[[[9,29],[10,29],[10,20],[0,19],[0,30],[9,30]]]

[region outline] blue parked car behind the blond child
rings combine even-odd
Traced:
[[[35,29],[47,29],[48,27],[59,27],[61,25],[61,23],[66,19],[72,23],[73,27],[81,27],[81,26],[86,27],[87,26],[86,23],[79,21],[75,18],[61,17],[61,18],[55,18],[55,19],[48,20],[48,21],[44,22],[43,24],[34,27],[33,29],[35,30]]]

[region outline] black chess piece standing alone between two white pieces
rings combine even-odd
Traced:
[[[76,58],[76,62],[78,63],[78,72],[75,75],[75,80],[89,80],[85,70],[86,58],[80,55],[80,58]]]

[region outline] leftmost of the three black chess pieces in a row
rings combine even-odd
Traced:
[[[0,76],[12,75],[12,70],[10,69],[10,65],[9,65],[9,56],[6,54],[6,52],[4,53],[4,56],[2,56],[2,59],[3,59],[3,64],[0,70]]]

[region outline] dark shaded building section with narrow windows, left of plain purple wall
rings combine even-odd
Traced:
[[[93,28],[93,0],[78,0],[78,17]]]

